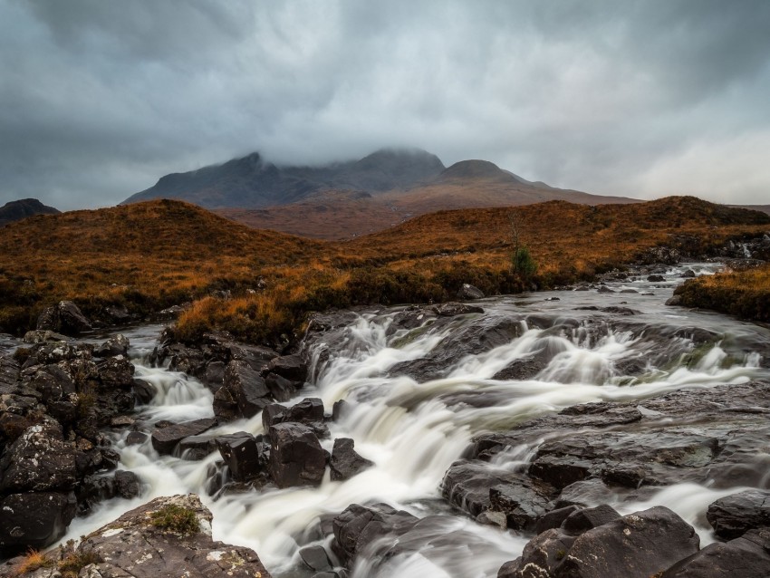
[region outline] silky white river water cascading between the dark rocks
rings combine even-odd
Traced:
[[[700,274],[716,269],[716,265],[690,266]],[[160,457],[149,441],[127,446],[127,432],[116,433],[120,467],[141,478],[143,494],[133,501],[112,500],[93,515],[76,519],[65,539],[85,534],[153,497],[195,492],[214,514],[216,539],[254,548],[276,578],[299,578],[312,575],[300,569],[298,544],[322,543],[313,532],[319,515],[339,513],[352,503],[376,501],[419,517],[443,516],[431,518],[421,530],[420,539],[431,545],[414,554],[397,555],[384,566],[360,560],[353,576],[494,577],[501,564],[521,553],[527,538],[476,524],[440,498],[445,471],[463,455],[475,434],[589,401],[643,400],[680,388],[770,378],[765,359],[770,331],[765,327],[663,304],[679,283],[681,271],[670,269],[665,283],[610,284],[619,292],[615,294],[592,289],[487,299],[478,303],[485,313],[458,316],[435,328],[389,331],[394,315],[403,308],[361,314],[344,338],[313,346],[313,384],[290,403],[320,397],[329,412],[337,400],[350,402],[351,411],[330,424],[332,438],[322,445],[331,450],[334,438],[353,438],[356,451],[375,467],[345,482],[332,482],[327,472],[318,488],[251,491],[215,500],[207,495],[207,481],[218,454],[199,462]],[[622,289],[637,293],[620,293]],[[580,309],[608,306],[630,307],[639,313],[626,316]],[[483,328],[504,322],[514,327],[507,342],[452,356],[438,379],[418,383],[404,375],[389,376],[396,364],[429,356],[457,339],[469,324]],[[137,377],[159,390],[149,406],[139,409],[148,431],[160,419],[213,415],[212,395],[199,381],[149,366],[147,359],[159,330],[159,326],[144,326],[126,333]],[[533,378],[493,379],[511,361],[533,356],[545,360]],[[626,375],[623,368],[630,366],[636,370]],[[486,402],[448,401],[457,395]],[[216,431],[241,430],[262,433],[261,417],[228,423]],[[534,449],[511,448],[496,458],[496,466],[520,467],[532,458]],[[712,538],[702,513],[717,497],[733,491],[680,484],[660,489],[649,502],[616,507],[625,514],[653,505],[669,506],[696,525],[707,542]],[[444,539],[447,536],[456,539]]]

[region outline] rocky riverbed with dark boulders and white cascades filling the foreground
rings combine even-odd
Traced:
[[[124,575],[133,527],[136,556],[230,548],[285,578],[766,576],[770,331],[664,305],[715,268],[319,315],[282,355],[72,340],[62,306],[0,358],[4,553],[85,535],[81,575]],[[236,545],[145,523],[188,493]]]

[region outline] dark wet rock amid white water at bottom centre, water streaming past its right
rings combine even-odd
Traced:
[[[332,522],[338,554],[345,565],[351,566],[356,555],[373,541],[384,535],[406,534],[418,521],[415,516],[387,504],[348,506]]]

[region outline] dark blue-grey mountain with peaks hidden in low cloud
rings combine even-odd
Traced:
[[[285,205],[329,189],[380,192],[408,188],[434,178],[444,169],[420,149],[381,149],[363,159],[322,167],[279,166],[252,153],[187,173],[174,173],[123,201],[178,198],[201,207],[268,207]]]

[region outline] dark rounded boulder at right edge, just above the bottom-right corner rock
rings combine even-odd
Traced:
[[[706,517],[714,532],[727,540],[770,528],[770,491],[747,490],[720,498],[708,506]]]

